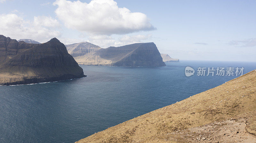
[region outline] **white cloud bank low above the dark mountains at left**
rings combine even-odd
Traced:
[[[60,32],[53,29],[58,21],[51,17],[34,17],[33,21],[26,21],[16,14],[0,14],[0,21],[0,34],[12,39],[27,38],[46,42],[60,36]]]

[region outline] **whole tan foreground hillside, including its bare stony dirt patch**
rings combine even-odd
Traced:
[[[256,70],[253,70],[218,87],[97,132],[76,143],[254,143],[255,87]]]

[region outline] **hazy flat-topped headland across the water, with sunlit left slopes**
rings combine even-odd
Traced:
[[[136,43],[108,48],[100,48],[88,42],[84,45],[83,43],[76,43],[76,45],[71,44],[66,47],[78,64],[127,67],[165,66],[154,43]]]

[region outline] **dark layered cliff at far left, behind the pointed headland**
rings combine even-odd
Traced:
[[[18,42],[10,37],[0,35],[0,65],[6,60],[11,59],[13,56],[23,52],[32,47],[38,46],[39,44],[29,44],[24,41]]]

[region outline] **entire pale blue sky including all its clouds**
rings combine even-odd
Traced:
[[[0,0],[0,34],[102,48],[154,42],[180,60],[256,61],[256,0]]]

